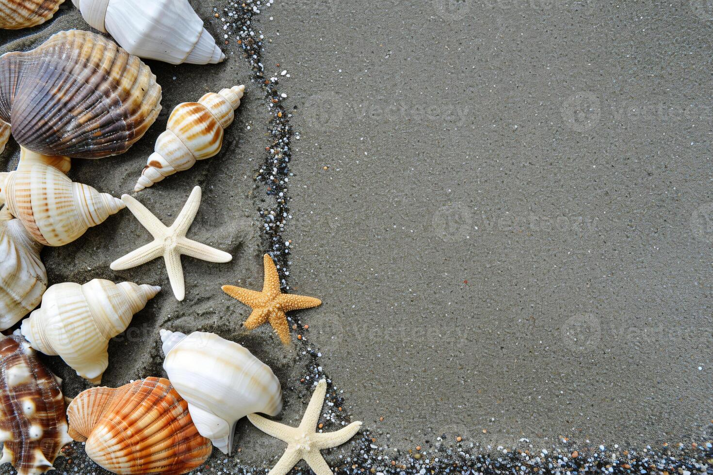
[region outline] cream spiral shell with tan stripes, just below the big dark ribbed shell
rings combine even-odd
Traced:
[[[72,182],[60,169],[42,163],[42,156],[24,155],[40,158],[21,158],[16,170],[0,173],[0,204],[7,205],[35,241],[63,246],[125,206],[111,194]]]

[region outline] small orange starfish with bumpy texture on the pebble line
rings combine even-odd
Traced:
[[[225,293],[252,308],[252,313],[242,325],[248,330],[255,330],[263,323],[270,322],[282,343],[289,345],[289,324],[286,312],[302,308],[316,307],[322,303],[319,298],[297,296],[282,293],[279,289],[279,274],[270,254],[262,256],[265,264],[265,283],[262,292],[249,288],[222,286]]]

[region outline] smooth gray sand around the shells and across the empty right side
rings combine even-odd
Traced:
[[[705,3],[278,0],[263,9],[265,73],[288,71],[280,90],[297,107],[300,137],[284,233],[289,284],[324,301],[299,314],[309,345],[287,349],[269,328],[244,333],[247,308],[220,291],[262,284],[265,194],[254,177],[269,116],[250,67],[235,39],[217,66],[148,61],[163,86],[160,118],[125,155],[74,160],[71,177],[129,192],[177,103],[245,83],[219,157],[136,195],[170,224],[200,184],[189,235],[234,259],[185,258],[178,303],[163,262],[108,268],[148,242],[128,211],[45,249],[51,283],[164,288],[133,333],[111,343],[103,384],[164,375],[158,328],[206,330],[273,367],[287,422],[309,399],[298,353],[318,348],[349,414],[399,449],[443,432],[493,447],[701,437],[713,417]],[[197,10],[220,37],[214,6],[227,3]],[[73,27],[86,24],[63,7],[1,51]],[[7,169],[17,156],[10,146]],[[67,395],[88,387],[49,361]],[[246,421],[237,439],[237,458],[255,466],[272,466],[283,447]]]

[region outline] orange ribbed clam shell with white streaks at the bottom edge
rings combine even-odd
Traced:
[[[163,377],[80,392],[67,416],[69,434],[115,474],[185,474],[212,451],[191,421],[188,403]]]

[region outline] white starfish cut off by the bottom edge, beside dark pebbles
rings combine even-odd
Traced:
[[[322,380],[317,385],[317,389],[309,400],[307,411],[304,412],[302,422],[299,427],[289,427],[279,422],[265,419],[258,414],[248,414],[247,418],[258,429],[272,437],[287,442],[287,449],[279,458],[277,464],[272,467],[267,475],[285,475],[302,459],[307,462],[317,475],[332,475],[332,469],[324,461],[324,457],[319,453],[322,449],[331,449],[342,445],[351,439],[356,432],[359,432],[361,422],[352,422],[347,427],[339,429],[337,432],[317,432],[317,422],[319,414],[322,412],[324,395],[327,394],[327,381]]]

